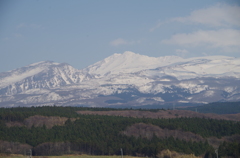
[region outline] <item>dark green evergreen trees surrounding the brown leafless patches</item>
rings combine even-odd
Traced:
[[[204,118],[150,119],[121,116],[80,115],[76,111],[118,110],[108,108],[84,107],[18,107],[0,108],[0,140],[31,145],[33,155],[62,155],[86,153],[92,155],[120,155],[122,148],[126,155],[151,156],[169,149],[179,153],[216,157],[215,149],[207,140],[184,141],[167,137],[133,137],[122,134],[127,127],[136,123],[152,124],[163,129],[182,130],[198,134],[203,138],[232,136],[240,134],[240,122]],[[121,109],[122,110],[122,109]],[[129,110],[129,109],[127,109]],[[155,111],[155,110],[152,110]],[[63,126],[47,128],[32,125],[8,127],[8,122],[24,122],[30,116],[67,117]],[[74,119],[73,119],[74,118]],[[0,152],[4,153],[0,148]],[[219,146],[219,156],[238,157],[239,140],[223,142]]]

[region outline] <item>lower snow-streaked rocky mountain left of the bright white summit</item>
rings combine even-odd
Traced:
[[[0,94],[14,95],[30,89],[51,89],[80,83],[86,74],[66,63],[43,61],[0,74]]]

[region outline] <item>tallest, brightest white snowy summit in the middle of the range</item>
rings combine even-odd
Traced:
[[[156,58],[126,51],[123,54],[113,54],[102,61],[90,65],[86,70],[90,74],[98,74],[100,76],[104,76],[105,74],[134,73],[169,65],[177,60],[183,59],[177,56]]]

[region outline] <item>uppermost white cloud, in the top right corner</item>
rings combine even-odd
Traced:
[[[191,22],[213,27],[240,26],[240,7],[217,4],[213,7],[195,10],[190,16],[174,18],[171,21]]]

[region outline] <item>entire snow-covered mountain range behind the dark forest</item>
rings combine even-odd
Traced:
[[[0,106],[240,101],[240,59],[113,54],[85,69],[43,61],[0,73]]]

